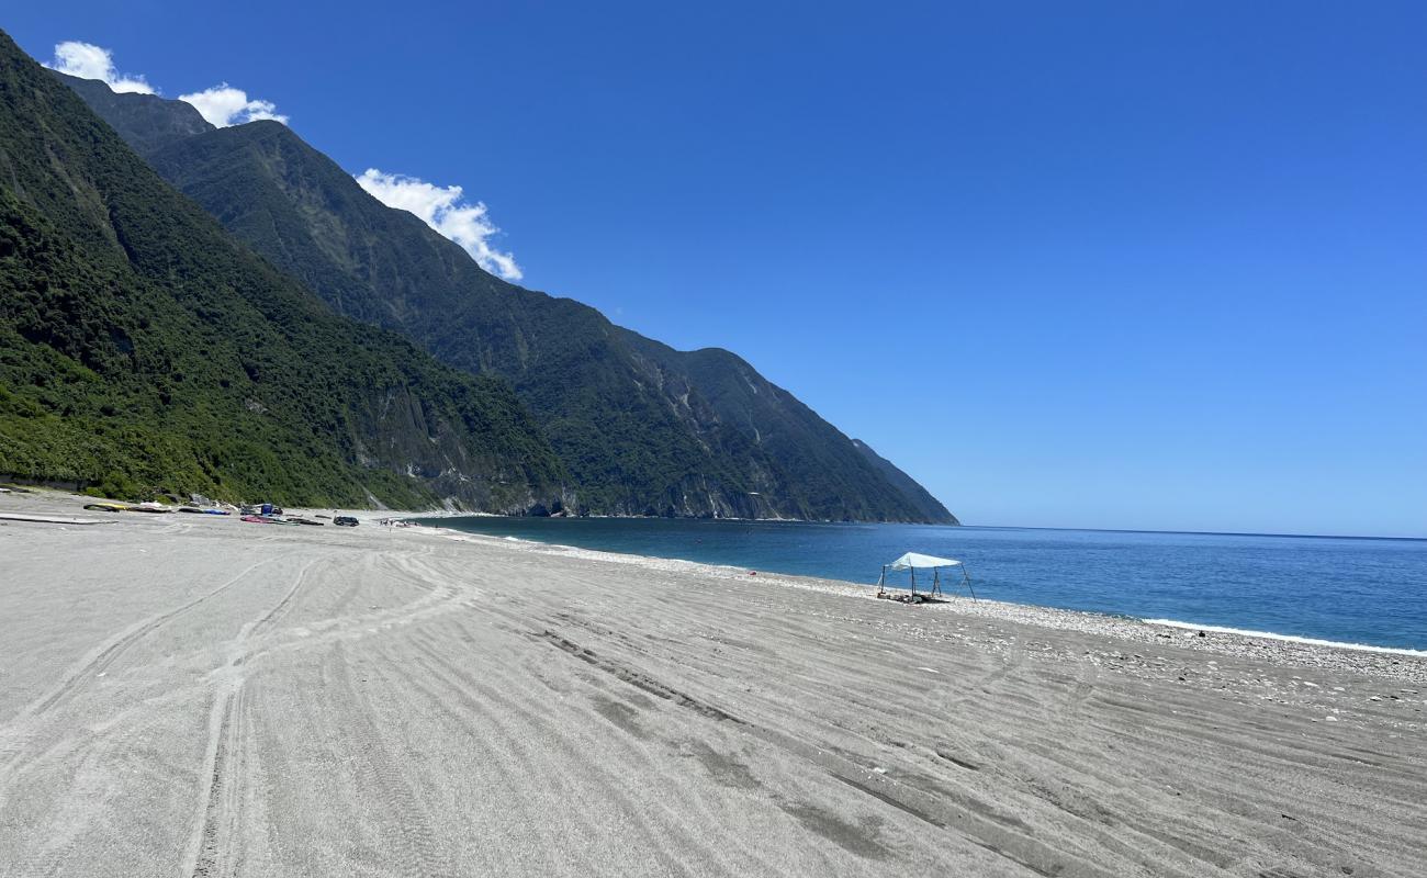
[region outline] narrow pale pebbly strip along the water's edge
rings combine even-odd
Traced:
[[[467,538],[474,537],[479,540],[497,540],[512,544],[525,544],[531,547],[544,547],[551,550],[558,550],[558,554],[572,555],[572,557],[589,557],[592,560],[605,560],[614,562],[625,562],[635,565],[645,565],[651,568],[661,568],[664,564],[678,564],[685,565],[689,571],[705,571],[711,575],[732,577],[732,578],[748,578],[748,568],[733,567],[728,564],[709,564],[701,561],[688,561],[684,558],[666,558],[662,555],[639,555],[634,552],[618,552],[609,550],[595,550],[584,548],[578,545],[568,545],[562,543],[545,543],[542,540],[529,540],[525,537],[509,537],[509,535],[492,535],[492,534],[475,534],[471,531],[462,531],[444,525],[428,525],[412,523],[411,527],[427,527],[434,531],[441,531],[447,538]],[[852,582],[848,580],[835,580],[828,577],[806,577],[799,574],[785,574],[776,571],[758,571],[758,578],[763,582],[781,584],[793,588],[811,588],[816,591],[825,591],[828,594],[843,594],[848,597],[870,598],[875,594],[875,585],[865,585],[860,582]],[[873,598],[875,600],[875,598]],[[1236,652],[1244,652],[1244,650],[1263,648],[1263,644],[1284,644],[1290,650],[1331,650],[1331,651],[1346,651],[1346,652],[1363,652],[1374,655],[1387,655],[1397,658],[1420,660],[1427,665],[1427,650],[1411,650],[1406,647],[1383,647],[1376,644],[1356,644],[1347,641],[1334,641],[1327,638],[1303,637],[1294,634],[1279,634],[1274,631],[1254,631],[1247,628],[1234,628],[1227,625],[1210,625],[1200,624],[1184,620],[1164,620],[1164,618],[1142,618],[1129,614],[1114,614],[1114,612],[1100,612],[1093,610],[1069,610],[1063,607],[1045,607],[1040,604],[1019,604],[1015,601],[996,601],[990,598],[979,598],[975,602],[969,602],[969,598],[956,592],[946,604],[922,604],[916,607],[916,611],[936,612],[948,607],[956,607],[959,611],[972,608],[975,611],[979,607],[985,608],[1003,608],[999,612],[999,618],[1029,621],[1039,618],[1039,624],[1047,627],[1072,627],[1087,632],[1103,632],[1112,637],[1129,637],[1130,640],[1146,640],[1140,637],[1143,631],[1140,627],[1156,627],[1156,628],[1173,628],[1179,631],[1187,631],[1187,637],[1193,640],[1213,640],[1233,644]],[[1079,624],[1077,624],[1079,622]],[[1029,624],[1037,624],[1036,621],[1029,621]],[[1213,638],[1197,637],[1199,631],[1206,634],[1213,634]],[[1156,635],[1153,640],[1164,640],[1164,637]],[[1391,660],[1388,660],[1391,661]],[[1427,682],[1427,670],[1421,677],[1421,681]]]

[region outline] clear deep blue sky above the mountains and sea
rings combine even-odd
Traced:
[[[970,524],[1427,535],[1427,4],[11,4],[532,288],[745,355]]]

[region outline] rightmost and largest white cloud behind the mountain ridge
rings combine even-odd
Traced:
[[[357,183],[387,207],[407,210],[425,220],[427,226],[464,247],[487,271],[505,280],[524,277],[512,254],[491,247],[491,238],[501,230],[491,223],[485,204],[462,203],[459,186],[434,186],[417,177],[384,174],[374,167],[358,174]]]

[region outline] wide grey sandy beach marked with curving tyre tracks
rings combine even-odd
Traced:
[[[1421,655],[81,504],[0,495],[0,875],[1427,862]]]

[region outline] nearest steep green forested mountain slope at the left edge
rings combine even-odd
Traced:
[[[124,97],[167,136],[203,128]],[[3,33],[0,473],[509,511],[557,503],[568,478],[507,383],[335,316]]]

